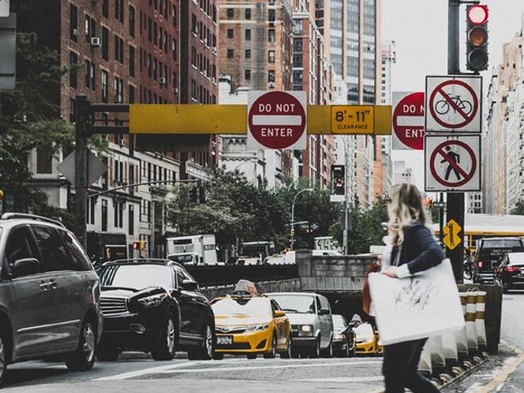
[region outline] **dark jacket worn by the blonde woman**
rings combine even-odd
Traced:
[[[394,247],[391,253],[391,265],[395,263],[397,252],[398,248]],[[404,229],[404,241],[398,266],[407,263],[409,272],[414,275],[437,266],[444,258],[442,247],[423,223],[417,221]]]

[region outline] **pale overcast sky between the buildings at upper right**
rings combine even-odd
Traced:
[[[427,74],[447,73],[447,0],[381,0],[382,40],[396,42],[393,68],[394,92],[423,92]],[[502,59],[502,45],[520,32],[524,0],[484,0],[489,6],[489,63]],[[461,62],[465,70],[465,6],[462,6]],[[486,73],[484,73],[486,74]],[[484,89],[486,91],[486,89]],[[406,159],[415,172],[416,183],[423,186],[422,153],[394,152],[394,159]]]

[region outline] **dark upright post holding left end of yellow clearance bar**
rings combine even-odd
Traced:
[[[87,136],[89,128],[87,118],[89,115],[89,102],[84,94],[77,95],[74,133],[74,183],[76,201],[74,214],[77,217],[78,237],[80,243],[87,248]]]

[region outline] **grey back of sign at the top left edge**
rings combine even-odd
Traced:
[[[0,90],[14,89],[16,81],[16,14],[9,14],[9,1],[7,11],[7,18],[0,15]]]

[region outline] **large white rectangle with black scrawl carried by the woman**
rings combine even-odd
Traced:
[[[372,273],[369,289],[384,345],[442,336],[464,328],[450,260],[405,279]]]

